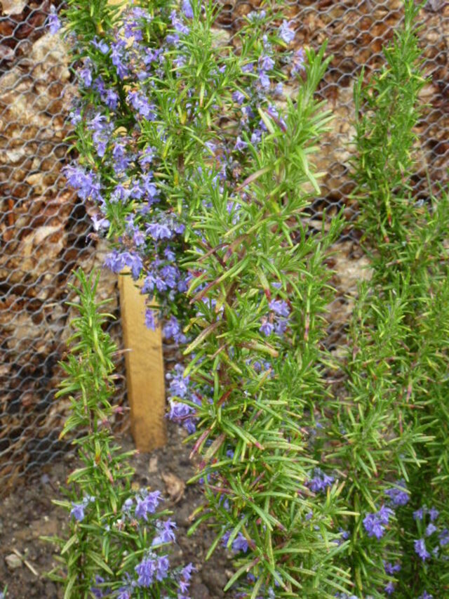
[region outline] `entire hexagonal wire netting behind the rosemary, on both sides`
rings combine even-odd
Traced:
[[[4,488],[67,446],[58,442],[67,404],[54,402],[60,381],[58,360],[65,352],[70,312],[67,282],[76,265],[90,270],[102,263],[106,247],[91,236],[91,221],[61,169],[70,160],[67,117],[76,93],[67,49],[46,32],[49,0],[3,0],[0,16],[0,480]],[[58,1],[53,2],[56,6]],[[223,3],[222,3],[223,4]],[[259,0],[223,4],[217,24],[229,32]],[[403,18],[400,0],[374,2],[306,0],[283,4],[295,23],[297,47],[318,47],[328,39],[334,55],[319,95],[333,110],[331,131],[316,157],[322,195],[310,210],[311,225],[321,227],[344,208],[347,228],[335,245],[333,284],[339,291],[330,306],[328,348],[342,343],[356,282],[366,276],[366,259],[351,230],[356,206],[349,201],[349,142],[354,133],[352,89],[361,65],[366,75],[381,62],[387,43]],[[448,168],[449,3],[427,1],[420,16],[425,70],[422,92],[428,104],[417,129],[417,197],[426,194],[427,173],[434,192]],[[103,270],[100,296],[112,296],[119,310],[116,278]],[[119,323],[112,335],[120,343]],[[123,372],[123,362],[118,364]],[[125,390],[119,385],[119,400]]]

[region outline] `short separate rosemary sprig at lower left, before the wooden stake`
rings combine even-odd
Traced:
[[[168,546],[175,541],[175,522],[158,511],[159,491],[131,488],[131,453],[121,452],[109,425],[114,408],[113,357],[116,345],[102,329],[109,315],[95,303],[99,275],[75,272],[72,286],[79,311],[72,321],[70,353],[61,366],[66,378],[58,395],[69,395],[71,411],[61,437],[73,441],[81,467],[67,479],[67,501],[55,500],[69,512],[70,536],[51,537],[60,547],[62,569],[51,578],[65,588],[65,598],[130,597],[161,599],[182,596],[192,565],[170,570]]]

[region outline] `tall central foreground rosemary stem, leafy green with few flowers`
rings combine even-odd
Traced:
[[[324,50],[308,53],[295,103],[279,118],[260,111],[268,134],[260,144],[248,140],[251,161],[241,180],[217,185],[215,172],[204,168],[192,179],[203,202],[189,218],[194,317],[185,353],[194,357],[185,374],[192,390],[210,388],[194,408],[193,453],[201,456],[195,478],[208,500],[198,523],[213,518],[215,544],[238,555],[227,588],[237,581],[244,587],[249,571],[251,597],[275,586],[293,597],[298,589],[313,596],[314,588],[330,593],[347,584],[330,560],[344,548],[332,531],[340,509],[334,478],[311,473],[302,458],[307,397],[323,393],[323,260],[340,228],[336,218],[318,240],[302,223],[304,186],[317,185],[307,154],[329,118],[313,99],[328,62]],[[319,563],[326,563],[326,580]]]

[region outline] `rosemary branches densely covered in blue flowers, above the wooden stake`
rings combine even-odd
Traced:
[[[116,244],[108,267],[128,266],[145,280],[153,328],[161,317],[189,311],[180,258],[188,246],[185,221],[198,207],[189,182],[199,157],[206,169],[220,165],[217,180],[238,176],[247,140],[260,143],[267,133],[259,110],[278,118],[274,42],[288,46],[288,23],[262,35],[243,27],[237,54],[215,39],[210,3],[150,9],[142,1],[121,13],[107,3],[95,11],[81,5],[69,1],[65,14],[80,89],[72,119],[80,158],[65,172],[91,204],[95,231],[107,231]],[[289,55],[302,67],[304,54],[293,58],[286,50],[282,59]],[[168,338],[172,332],[166,328]]]

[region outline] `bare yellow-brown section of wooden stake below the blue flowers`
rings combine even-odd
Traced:
[[[145,298],[128,275],[119,276],[131,433],[140,452],[166,444],[166,392],[161,329],[145,326]]]

